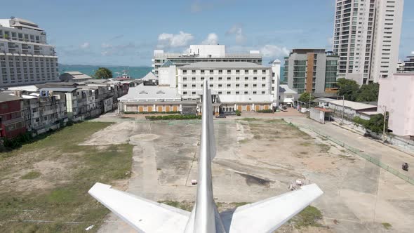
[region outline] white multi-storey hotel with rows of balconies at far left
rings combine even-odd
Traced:
[[[55,46],[46,32],[20,18],[0,19],[0,88],[58,81]]]

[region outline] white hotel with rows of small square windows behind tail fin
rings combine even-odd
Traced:
[[[178,67],[182,100],[201,100],[203,81],[212,90],[215,112],[272,109],[272,69],[251,62],[196,62]]]

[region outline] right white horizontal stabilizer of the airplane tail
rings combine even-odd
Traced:
[[[226,227],[229,233],[274,232],[322,194],[318,185],[305,185],[277,197],[240,206],[232,215],[222,215],[222,220],[229,224]]]

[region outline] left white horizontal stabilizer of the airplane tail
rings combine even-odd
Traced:
[[[138,232],[184,232],[189,212],[159,204],[97,182],[89,194]]]

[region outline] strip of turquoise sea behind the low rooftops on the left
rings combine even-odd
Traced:
[[[92,65],[62,65],[59,64],[59,73],[65,73],[68,71],[77,71],[84,74],[88,74],[89,76],[95,74],[95,71],[99,67],[106,67],[112,71],[114,78],[116,76],[121,76],[123,71],[125,70],[133,79],[140,79],[148,74],[148,72],[152,71],[152,67],[116,67],[116,66],[92,66]]]

